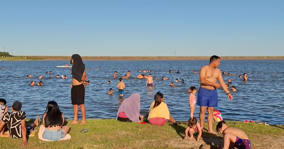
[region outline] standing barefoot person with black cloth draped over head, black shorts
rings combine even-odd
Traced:
[[[87,80],[85,64],[78,54],[73,54],[70,60],[72,66],[72,85],[71,85],[71,102],[73,105],[74,120],[71,124],[78,124],[78,105],[82,112],[82,122],[80,125],[85,124],[86,109],[85,109],[85,87],[83,82]]]

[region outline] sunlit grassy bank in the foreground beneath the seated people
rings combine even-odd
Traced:
[[[212,135],[204,131],[199,142],[184,140],[186,122],[173,126],[167,123],[165,126],[150,124],[137,124],[118,122],[114,119],[87,120],[86,124],[72,125],[70,127],[70,140],[58,142],[43,142],[38,139],[38,131],[34,137],[30,137],[28,147],[21,147],[22,139],[0,138],[0,148],[199,148],[202,145],[220,145],[222,134]],[[213,127],[216,128],[214,123]],[[262,144],[270,144],[269,138],[284,139],[284,129],[262,124],[228,122],[228,125],[244,130],[251,139],[254,148],[262,147]],[[80,130],[87,128],[87,133]],[[207,124],[205,125],[207,127]],[[38,130],[39,127],[36,128]],[[278,143],[282,143],[283,141]],[[275,144],[275,143],[274,143]],[[216,146],[211,146],[215,148]],[[210,146],[209,146],[210,148]],[[275,147],[277,148],[277,147]]]

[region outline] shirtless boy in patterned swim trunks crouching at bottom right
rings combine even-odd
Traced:
[[[223,134],[223,149],[233,147],[238,149],[251,148],[251,141],[248,139],[248,135],[239,128],[228,127],[225,121],[218,122],[216,131]]]

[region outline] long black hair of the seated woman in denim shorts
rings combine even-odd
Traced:
[[[45,127],[56,127],[63,125],[62,112],[60,112],[57,102],[49,101],[46,106],[45,113]]]

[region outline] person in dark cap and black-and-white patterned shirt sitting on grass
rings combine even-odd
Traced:
[[[0,130],[2,130],[4,124],[7,123],[10,134],[4,134],[4,136],[11,136],[12,138],[23,138],[22,146],[26,146],[29,144],[27,136],[33,132],[36,126],[39,126],[39,116],[36,116],[36,120],[31,125],[26,126],[26,113],[24,111],[21,111],[21,108],[21,102],[16,101],[13,103],[11,107],[12,113],[6,112],[2,117]]]

